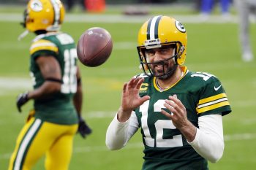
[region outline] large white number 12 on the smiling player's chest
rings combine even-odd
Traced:
[[[162,108],[164,107],[165,100],[158,100],[154,104],[154,114],[161,114]],[[154,123],[157,135],[156,139],[153,139],[151,137],[149,128],[148,128],[148,105],[149,101],[144,102],[140,106],[140,112],[142,112],[142,117],[141,117],[141,128],[143,129],[144,132],[144,139],[146,142],[146,145],[148,147],[154,147],[155,142],[156,142],[156,147],[181,147],[183,146],[182,142],[182,136],[181,134],[173,136],[173,139],[163,139],[163,133],[164,129],[176,129],[176,127],[173,125],[172,120],[157,120],[156,123]],[[158,112],[158,113],[157,113]]]

